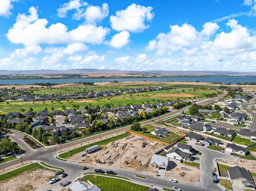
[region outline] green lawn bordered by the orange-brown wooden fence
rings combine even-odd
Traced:
[[[172,143],[181,137],[173,132],[170,132],[166,137],[158,137],[150,133],[151,131],[154,131],[156,129],[155,126],[146,125],[145,127],[147,128],[147,131],[145,133],[143,133],[142,131],[131,131],[166,143]]]

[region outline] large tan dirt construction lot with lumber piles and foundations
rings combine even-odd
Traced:
[[[119,145],[118,145],[119,142]],[[146,147],[142,148],[142,143],[146,143]],[[118,145],[118,146],[117,146]],[[116,147],[117,146],[117,147]],[[72,156],[70,159],[83,161],[85,164],[96,164],[96,165],[111,165],[113,167],[126,167],[138,171],[144,171],[148,168],[151,156],[154,152],[163,148],[164,145],[156,144],[151,145],[151,141],[141,139],[140,137],[130,136],[128,139],[120,139],[115,142],[111,142],[105,146],[101,146],[101,149],[89,153],[84,157],[81,157],[78,153]],[[120,161],[121,158],[121,161]],[[106,162],[106,163],[97,163]],[[146,165],[146,166],[145,166]],[[151,169],[149,169],[151,171]]]

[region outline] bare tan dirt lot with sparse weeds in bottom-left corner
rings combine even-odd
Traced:
[[[16,177],[1,182],[0,191],[28,191],[36,189],[38,186],[50,180],[54,176],[54,171],[46,168],[37,168],[26,171]]]

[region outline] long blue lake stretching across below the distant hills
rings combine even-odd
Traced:
[[[256,77],[171,77],[171,78],[115,78],[115,79],[39,79],[39,80],[0,80],[0,84],[22,84],[28,85],[32,83],[49,82],[49,83],[74,83],[74,82],[110,82],[110,81],[154,81],[154,82],[166,82],[166,81],[192,81],[195,82],[199,80],[200,82],[212,83],[213,81],[222,83],[232,83],[237,82],[252,82],[256,81]]]

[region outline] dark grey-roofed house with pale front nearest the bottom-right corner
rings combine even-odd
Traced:
[[[231,183],[240,187],[255,187],[255,182],[249,171],[244,167],[234,166],[228,168]],[[237,186],[238,187],[238,186]]]

